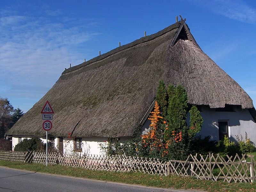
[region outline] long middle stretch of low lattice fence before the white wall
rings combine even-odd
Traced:
[[[154,175],[168,175],[169,162],[158,158],[131,156],[98,156],[98,155],[63,155],[48,154],[48,164],[83,167],[88,170],[113,172],[143,172]],[[45,154],[35,153],[33,162],[46,162]]]

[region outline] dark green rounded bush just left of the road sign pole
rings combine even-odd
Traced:
[[[23,139],[15,146],[14,151],[42,151],[44,150],[44,145],[43,141],[38,137]]]

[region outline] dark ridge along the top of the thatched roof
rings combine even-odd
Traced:
[[[124,44],[124,45],[122,45],[122,46],[120,46],[120,47],[116,47],[115,49],[112,49],[112,50],[109,51],[109,52],[106,52],[106,53],[104,53],[104,54],[102,54],[102,55],[99,55],[99,56],[97,56],[97,57],[94,57],[94,58],[92,58],[92,59],[90,59],[90,60],[88,60],[88,61],[86,61],[86,62],[83,62],[83,63],[81,63],[81,64],[79,64],[79,65],[74,66],[74,67],[65,69],[65,70],[62,72],[61,75],[66,74],[66,73],[69,73],[69,72],[74,71],[74,70],[76,70],[76,69],[82,68],[82,67],[87,66],[87,65],[89,65],[89,64],[91,64],[91,63],[94,63],[94,62],[96,62],[96,61],[103,60],[103,59],[105,59],[105,58],[107,58],[107,57],[109,57],[109,56],[111,56],[111,55],[113,55],[113,54],[115,54],[115,53],[117,53],[117,52],[120,52],[120,51],[123,51],[123,50],[125,50],[125,49],[131,48],[131,47],[136,46],[136,45],[138,45],[138,44],[145,43],[145,42],[147,42],[147,41],[151,41],[151,40],[153,40],[153,39],[155,39],[155,38],[157,38],[157,37],[159,37],[159,36],[164,35],[165,33],[168,33],[169,31],[172,31],[172,30],[175,29],[175,28],[179,28],[181,24],[182,24],[182,22],[181,22],[181,21],[178,21],[178,22],[176,22],[176,23],[174,23],[174,24],[172,24],[172,25],[170,25],[170,26],[164,28],[163,30],[158,31],[158,32],[152,34],[152,35],[144,36],[144,37],[141,37],[140,39],[137,39],[137,40],[135,40],[135,41],[133,41],[133,42],[131,42],[131,43]]]

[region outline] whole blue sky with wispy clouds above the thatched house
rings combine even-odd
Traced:
[[[256,6],[242,0],[0,2],[0,97],[27,112],[64,68],[187,19],[201,49],[256,104]]]

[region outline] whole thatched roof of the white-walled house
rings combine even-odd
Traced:
[[[40,111],[49,100],[55,112],[52,135],[132,136],[160,79],[182,84],[190,104],[254,109],[248,94],[200,49],[185,25],[176,22],[65,70],[8,134],[44,135]]]

